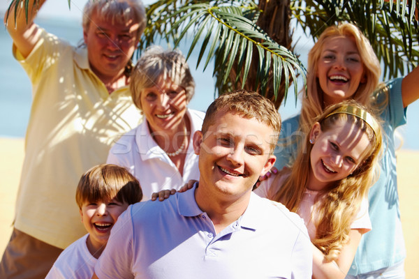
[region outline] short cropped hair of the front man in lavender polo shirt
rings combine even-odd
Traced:
[[[274,135],[272,135],[271,152],[274,150],[281,131],[281,116],[271,100],[259,93],[244,89],[219,96],[207,109],[203,121],[203,135],[215,122],[218,112],[235,112],[247,119],[256,118],[272,128]],[[245,127],[243,128],[245,129]]]

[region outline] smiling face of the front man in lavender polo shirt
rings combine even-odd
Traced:
[[[272,167],[270,153],[274,131],[257,119],[218,112],[205,135],[193,137],[199,155],[199,188],[216,199],[235,201],[251,193],[260,175]]]

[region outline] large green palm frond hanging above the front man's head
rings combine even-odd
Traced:
[[[213,75],[219,93],[245,88],[265,95],[268,85],[278,92],[281,80],[284,80],[287,92],[290,82],[296,82],[297,75],[305,77],[304,66],[297,56],[274,42],[256,25],[260,11],[252,1],[164,2],[159,8],[156,7],[161,3],[156,3],[148,10],[145,43],[154,41],[155,31],[172,40],[175,47],[187,36],[192,36],[186,56],[200,45],[198,65],[205,63],[206,68],[214,59]],[[182,6],[179,7],[179,3]],[[249,80],[253,68],[256,75]],[[296,86],[294,93],[297,96]]]

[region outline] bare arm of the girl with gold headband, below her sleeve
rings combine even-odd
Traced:
[[[332,262],[326,262],[323,252],[311,244],[313,246],[313,278],[345,278],[355,257],[361,236],[360,229],[351,229],[349,242],[342,248],[337,260]]]

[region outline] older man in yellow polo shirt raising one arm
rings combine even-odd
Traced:
[[[20,279],[45,278],[84,234],[71,198],[80,174],[105,162],[113,142],[141,121],[128,84],[146,20],[140,0],[89,0],[84,45],[74,47],[34,23],[45,0],[28,1],[28,15],[23,2],[12,1],[5,24],[33,103],[15,227],[0,264],[0,278]]]

